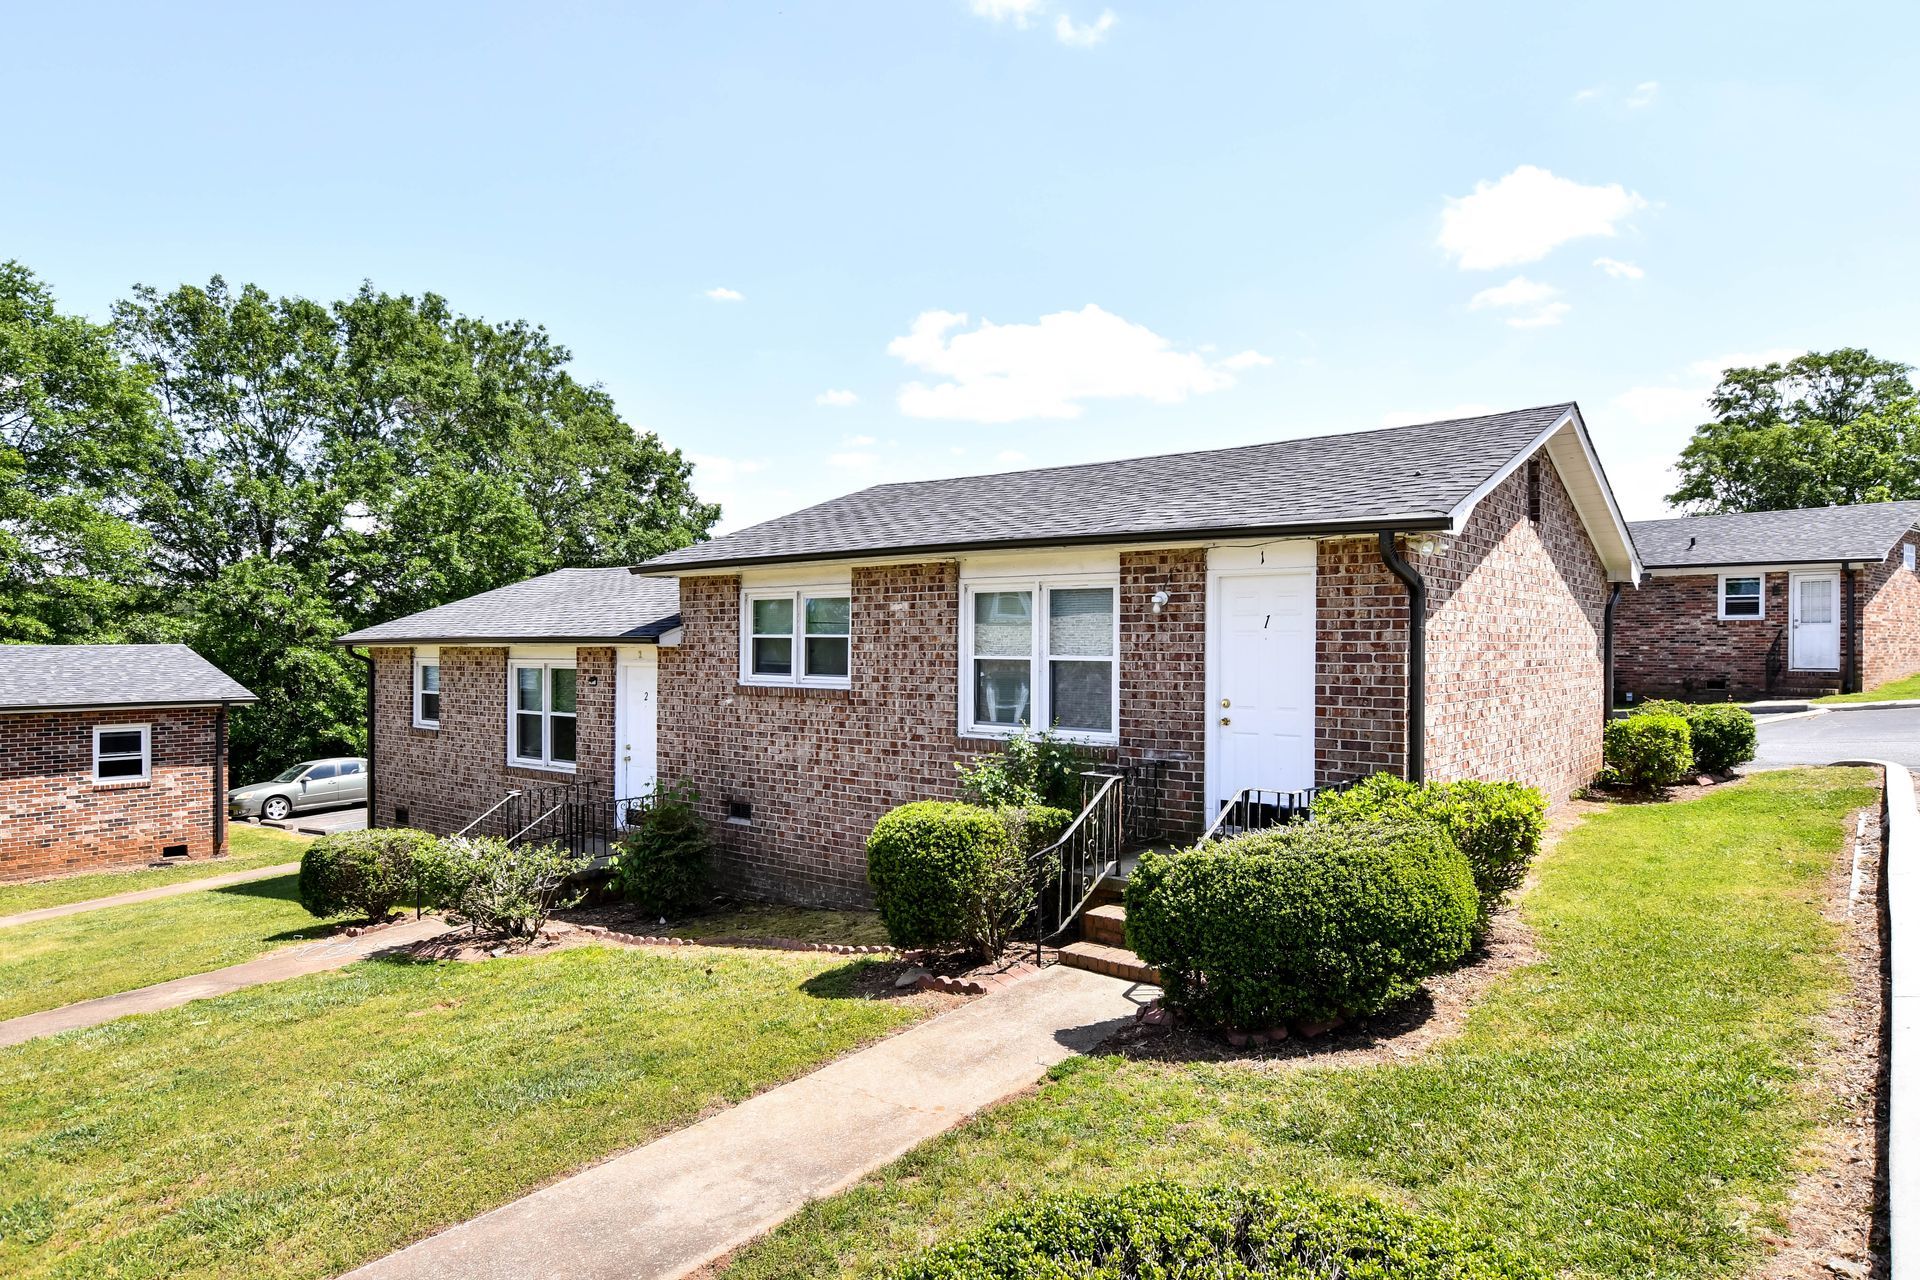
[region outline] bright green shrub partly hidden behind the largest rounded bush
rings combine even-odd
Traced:
[[[1317,821],[1379,821],[1421,818],[1438,821],[1473,869],[1480,894],[1476,929],[1484,931],[1500,904],[1526,879],[1548,831],[1548,798],[1524,783],[1421,783],[1375,773],[1346,791],[1313,800]]]

